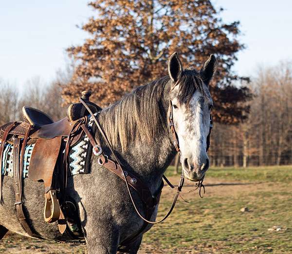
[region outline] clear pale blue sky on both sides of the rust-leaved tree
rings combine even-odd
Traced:
[[[92,16],[88,0],[16,0],[0,3],[0,79],[23,89],[39,76],[45,82],[66,65],[65,49],[87,34],[76,27]],[[240,40],[235,71],[253,75],[256,66],[292,59],[291,0],[213,0],[224,21],[239,20]]]

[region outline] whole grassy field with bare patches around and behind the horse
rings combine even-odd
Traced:
[[[167,174],[178,182],[172,168]],[[190,203],[180,200],[165,222],[145,234],[140,254],[292,253],[292,167],[210,169],[204,184],[203,199],[198,192],[183,193]],[[193,183],[186,182],[184,190],[192,188]],[[167,212],[173,195],[164,187],[159,217]],[[242,207],[248,211],[241,212]],[[2,240],[0,252],[86,253],[84,246],[13,234]]]

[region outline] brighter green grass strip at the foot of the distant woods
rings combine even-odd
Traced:
[[[166,176],[173,175],[174,167],[170,166]],[[292,166],[211,168],[206,172],[207,177],[249,182],[292,182]]]

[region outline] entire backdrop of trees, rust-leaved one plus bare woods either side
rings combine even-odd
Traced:
[[[91,99],[106,106],[166,75],[174,51],[185,68],[197,69],[214,53],[212,165],[292,163],[291,63],[261,69],[251,83],[234,73],[237,52],[245,48],[238,40],[239,21],[223,22],[223,9],[210,0],[94,0],[88,5],[96,16],[81,26],[89,33],[84,42],[67,49],[73,68],[50,85],[33,79],[23,94],[0,81],[1,123],[21,119],[23,105],[60,119],[83,90],[92,90]]]

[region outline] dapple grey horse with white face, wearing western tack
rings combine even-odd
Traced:
[[[214,55],[197,71],[192,67],[183,69],[175,52],[169,58],[167,76],[137,87],[96,116],[123,169],[138,176],[152,195],[160,190],[164,171],[176,155],[178,144],[184,178],[192,182],[204,178],[209,168],[206,150],[213,106],[208,85],[215,70]],[[170,113],[173,129],[169,128]],[[103,135],[96,131],[94,138],[112,157]],[[87,251],[136,254],[143,234],[153,225],[144,226],[144,204],[131,187],[130,197],[125,182],[104,168],[94,154],[90,161],[90,173],[67,180],[67,195],[77,204]],[[3,177],[2,193],[0,235],[10,230],[29,237],[14,206],[12,177]],[[24,213],[32,230],[42,239],[70,240],[70,236],[60,234],[56,222],[43,220],[43,200],[39,197],[43,197],[43,183],[23,179]],[[158,203],[148,220],[154,221],[157,211]],[[131,237],[133,240],[127,242]]]

